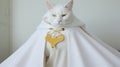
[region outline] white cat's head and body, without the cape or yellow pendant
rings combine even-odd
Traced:
[[[72,12],[73,0],[70,0],[66,5],[53,6],[47,2],[49,11],[43,17],[44,23],[47,23],[54,28],[65,27],[73,22],[74,15]],[[52,28],[53,28],[52,27]],[[54,30],[53,30],[54,31]],[[50,31],[50,32],[53,32]],[[60,31],[62,34],[65,32]],[[59,38],[58,32],[53,33],[51,38],[56,36]],[[55,40],[56,41],[56,40]],[[47,42],[45,47],[45,67],[67,67],[67,44],[66,39],[57,43],[55,48],[51,47],[51,43]]]

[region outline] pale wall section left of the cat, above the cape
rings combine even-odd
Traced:
[[[23,44],[40,23],[46,12],[44,1],[13,0],[12,51]]]

